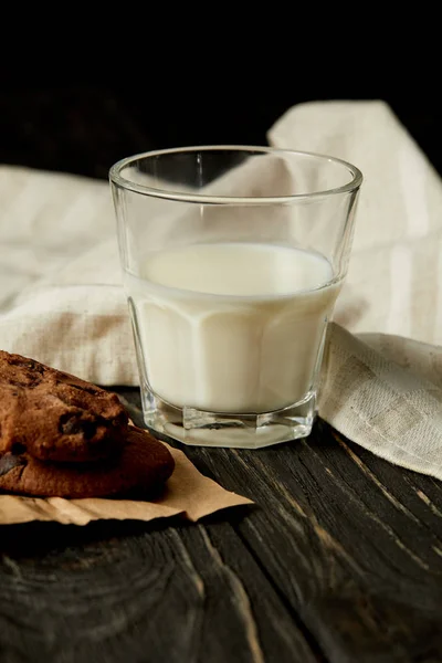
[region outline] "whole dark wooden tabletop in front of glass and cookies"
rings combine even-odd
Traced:
[[[322,422],[270,450],[185,451],[255,506],[1,527],[1,663],[442,661],[439,482]]]

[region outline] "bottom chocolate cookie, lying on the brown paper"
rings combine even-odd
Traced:
[[[173,469],[167,446],[130,425],[122,453],[99,463],[52,463],[27,452],[3,453],[0,491],[35,497],[149,496],[165,485]]]

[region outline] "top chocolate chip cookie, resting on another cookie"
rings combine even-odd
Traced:
[[[97,461],[122,450],[127,425],[116,393],[0,350],[0,453]]]

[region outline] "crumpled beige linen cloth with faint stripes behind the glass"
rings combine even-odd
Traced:
[[[276,147],[360,168],[352,255],[329,327],[320,415],[442,478],[442,182],[382,102],[291,108]],[[0,168],[0,348],[138,385],[107,182]]]

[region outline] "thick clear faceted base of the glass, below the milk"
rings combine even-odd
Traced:
[[[262,449],[307,438],[316,418],[316,394],[262,414],[225,414],[175,408],[149,389],[141,389],[146,425],[191,446]]]

